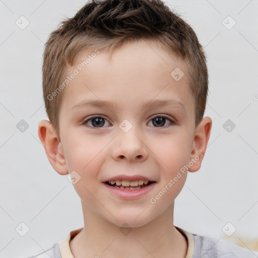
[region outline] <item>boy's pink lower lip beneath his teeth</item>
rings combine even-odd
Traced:
[[[104,186],[107,187],[109,191],[114,193],[114,195],[122,198],[122,199],[137,199],[144,195],[146,195],[149,191],[151,191],[154,187],[155,182],[137,190],[126,190],[126,189],[119,189],[114,186],[110,186],[104,183]]]

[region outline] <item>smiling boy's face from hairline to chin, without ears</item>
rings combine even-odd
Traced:
[[[81,177],[74,187],[84,212],[116,225],[144,225],[173,207],[186,180],[182,168],[197,156],[195,109],[186,66],[151,42],[142,42],[116,49],[110,60],[100,51],[80,71],[78,64],[90,54],[81,55],[68,70],[67,76],[75,68],[79,74],[64,90],[58,150],[69,173],[76,171]],[[170,75],[176,68],[184,73],[179,81]],[[87,105],[89,100],[99,104]],[[168,105],[143,107],[158,100]],[[92,116],[95,119],[85,122]],[[200,160],[196,166],[201,166]],[[139,190],[105,184],[111,178],[119,184],[126,176],[154,183]],[[156,198],[164,187],[162,197]]]

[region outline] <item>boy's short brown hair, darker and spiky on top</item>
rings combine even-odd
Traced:
[[[112,50],[124,42],[141,39],[157,40],[186,61],[196,126],[200,123],[208,95],[208,70],[203,47],[192,28],[160,0],[91,0],[73,18],[62,21],[45,44],[43,96],[58,137],[63,91],[56,90],[67,66],[74,66],[82,51]],[[53,92],[56,94],[51,99]]]

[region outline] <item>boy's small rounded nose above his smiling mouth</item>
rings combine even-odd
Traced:
[[[117,161],[124,159],[129,162],[142,162],[149,155],[147,149],[143,137],[139,133],[137,134],[134,127],[127,133],[118,128],[118,136],[115,138],[112,148],[112,157]]]

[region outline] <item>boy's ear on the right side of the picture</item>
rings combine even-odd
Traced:
[[[193,165],[188,169],[189,172],[196,172],[201,168],[206,148],[210,139],[211,128],[212,119],[208,116],[204,117],[196,127],[195,138],[192,142],[190,155],[190,162],[193,163]]]

